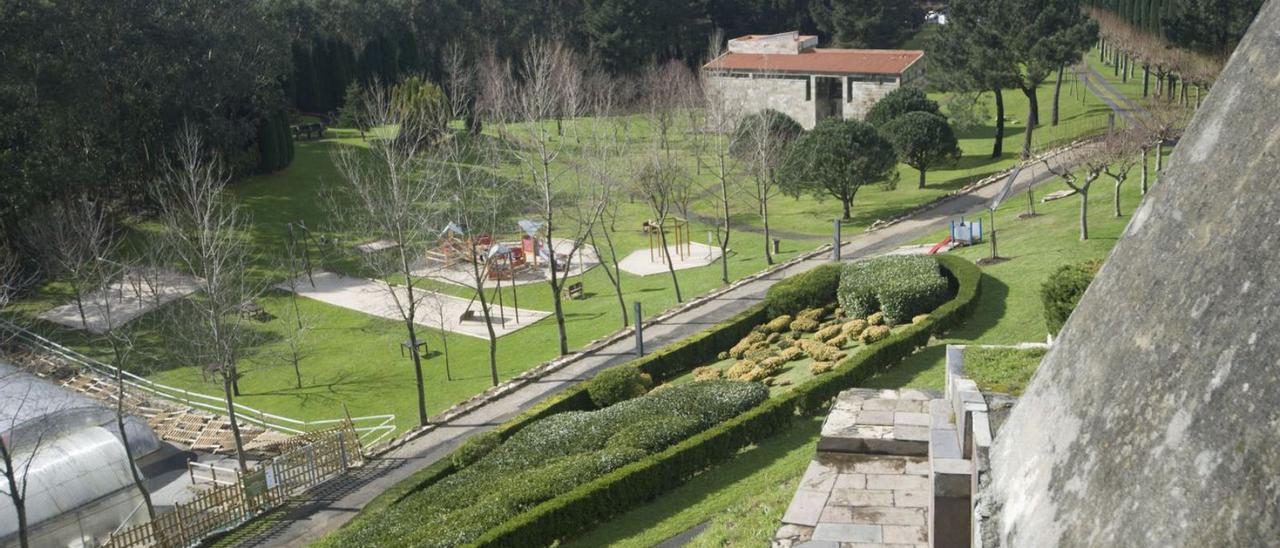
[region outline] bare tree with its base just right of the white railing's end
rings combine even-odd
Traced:
[[[397,108],[390,93],[376,82],[365,93],[361,115],[369,127],[398,128],[398,132],[394,137],[370,140],[367,151],[334,149],[334,164],[344,186],[343,192],[333,196],[332,210],[347,229],[389,243],[383,251],[361,254],[361,260],[404,325],[406,344],[413,359],[417,421],[425,426],[426,391],[416,320],[428,293],[417,288],[425,278],[419,273],[417,261],[425,256],[429,234],[434,233],[430,204],[440,189],[439,170],[428,156],[435,152],[438,141],[449,137],[425,131],[443,124],[416,119],[424,115],[421,110]]]

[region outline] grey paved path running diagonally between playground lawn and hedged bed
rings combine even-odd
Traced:
[[[1060,161],[1070,163],[1080,154],[1084,154],[1080,149],[1064,152]],[[1053,175],[1042,164],[1028,165],[1015,182],[1015,192],[1052,178]],[[876,232],[846,234],[841,255],[847,260],[882,254],[946,227],[952,218],[980,214],[1002,186],[1001,182],[988,184]],[[799,262],[782,271],[742,284],[703,306],[649,325],[645,328],[645,348],[652,352],[714,325],[759,302],[774,282],[809,270],[827,260],[829,257]],[[310,493],[310,497],[294,503],[283,519],[264,528],[257,534],[242,539],[239,545],[305,545],[314,542],[346,524],[379,493],[445,457],[466,438],[502,424],[544,398],[591,378],[602,369],[626,362],[634,357],[630,338],[584,356],[559,371],[516,389],[470,415],[444,424],[421,438],[388,452],[366,465],[362,471],[317,487]]]

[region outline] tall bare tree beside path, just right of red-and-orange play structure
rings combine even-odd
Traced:
[[[504,152],[520,163],[536,191],[561,355],[568,353],[562,291],[572,270],[572,257],[585,245],[604,207],[602,193],[593,181],[580,177],[581,169],[558,163],[571,141],[582,141],[584,122],[579,117],[589,101],[581,65],[562,41],[535,40],[516,64],[517,69],[489,76],[486,81],[494,86],[485,90],[490,95],[486,101],[490,115],[507,145]],[[554,131],[547,125],[550,119],[556,120]],[[566,123],[572,140],[564,136]],[[568,241],[567,248],[556,248],[557,236]]]

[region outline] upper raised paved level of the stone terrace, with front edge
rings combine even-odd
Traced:
[[[924,391],[852,388],[841,392],[822,425],[819,452],[929,455],[929,401]]]

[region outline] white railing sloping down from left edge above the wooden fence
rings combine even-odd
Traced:
[[[104,364],[92,357],[84,356],[9,320],[0,319],[0,332],[5,332],[10,335],[8,342],[23,346],[28,351],[44,352],[59,359],[72,367],[84,369],[108,379],[115,379],[116,367],[114,365]],[[127,384],[129,389],[142,391],[163,399],[180,403],[191,408],[204,410],[214,415],[227,414],[227,402],[220,396],[210,396],[200,392],[192,392],[186,388],[160,384],[129,371],[123,371],[123,376],[124,384]],[[239,420],[285,434],[302,434],[316,429],[332,428],[348,420],[347,417],[298,420],[270,414],[243,403],[233,402],[232,406]],[[351,417],[349,421],[356,433],[360,435],[361,444],[366,449],[385,440],[396,431],[396,415],[369,415]]]

